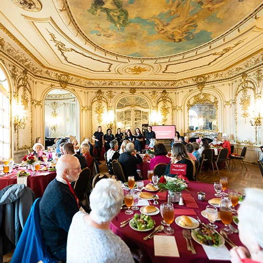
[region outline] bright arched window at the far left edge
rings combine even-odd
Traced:
[[[0,68],[0,159],[10,158],[10,89]]]

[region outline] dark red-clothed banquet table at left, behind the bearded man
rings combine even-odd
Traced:
[[[17,184],[17,176],[16,174],[19,170],[23,170],[24,168],[19,167],[19,169],[14,169],[11,174],[8,175],[1,175],[0,176],[0,190],[13,184]],[[38,174],[33,175],[32,170],[26,170],[30,173],[27,177],[27,187],[31,188],[36,198],[42,197],[44,194],[45,189],[47,188],[48,184],[55,179],[56,172],[49,172],[49,171],[39,171]]]

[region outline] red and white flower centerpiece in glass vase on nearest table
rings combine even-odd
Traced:
[[[182,175],[175,177],[164,175],[160,178],[158,187],[159,191],[165,192],[168,190],[168,202],[176,203],[179,202],[180,197],[182,196],[182,191],[187,190],[188,182],[188,179]]]

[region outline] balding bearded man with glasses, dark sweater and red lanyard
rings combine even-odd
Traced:
[[[57,260],[66,260],[70,224],[82,206],[71,186],[80,172],[80,164],[75,156],[61,156],[56,163],[56,178],[49,183],[39,203],[43,240]]]

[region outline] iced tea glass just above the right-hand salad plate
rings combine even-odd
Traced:
[[[228,227],[228,225],[233,220],[233,214],[231,209],[231,199],[229,197],[222,197],[221,198],[221,206],[219,208],[220,218],[222,223],[225,225],[225,228],[221,228],[226,234],[232,234],[233,232]]]

